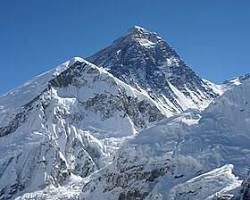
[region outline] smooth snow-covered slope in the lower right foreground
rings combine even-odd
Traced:
[[[241,184],[232,169],[244,178],[250,167],[249,102],[245,80],[203,112],[190,110],[143,130],[83,187],[83,199],[232,197]]]

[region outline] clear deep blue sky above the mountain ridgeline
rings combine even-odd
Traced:
[[[0,94],[140,25],[200,76],[250,72],[249,0],[1,0]]]

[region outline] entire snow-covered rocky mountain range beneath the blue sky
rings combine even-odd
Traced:
[[[250,75],[200,78],[134,26],[0,97],[0,200],[247,200]]]

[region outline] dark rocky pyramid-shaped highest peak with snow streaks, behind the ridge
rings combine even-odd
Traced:
[[[204,109],[221,93],[197,76],[158,34],[138,26],[87,60],[143,90],[168,116]]]

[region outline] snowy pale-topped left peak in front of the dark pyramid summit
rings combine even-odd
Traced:
[[[87,176],[110,162],[124,138],[164,117],[146,95],[81,58],[0,105],[0,199]]]

